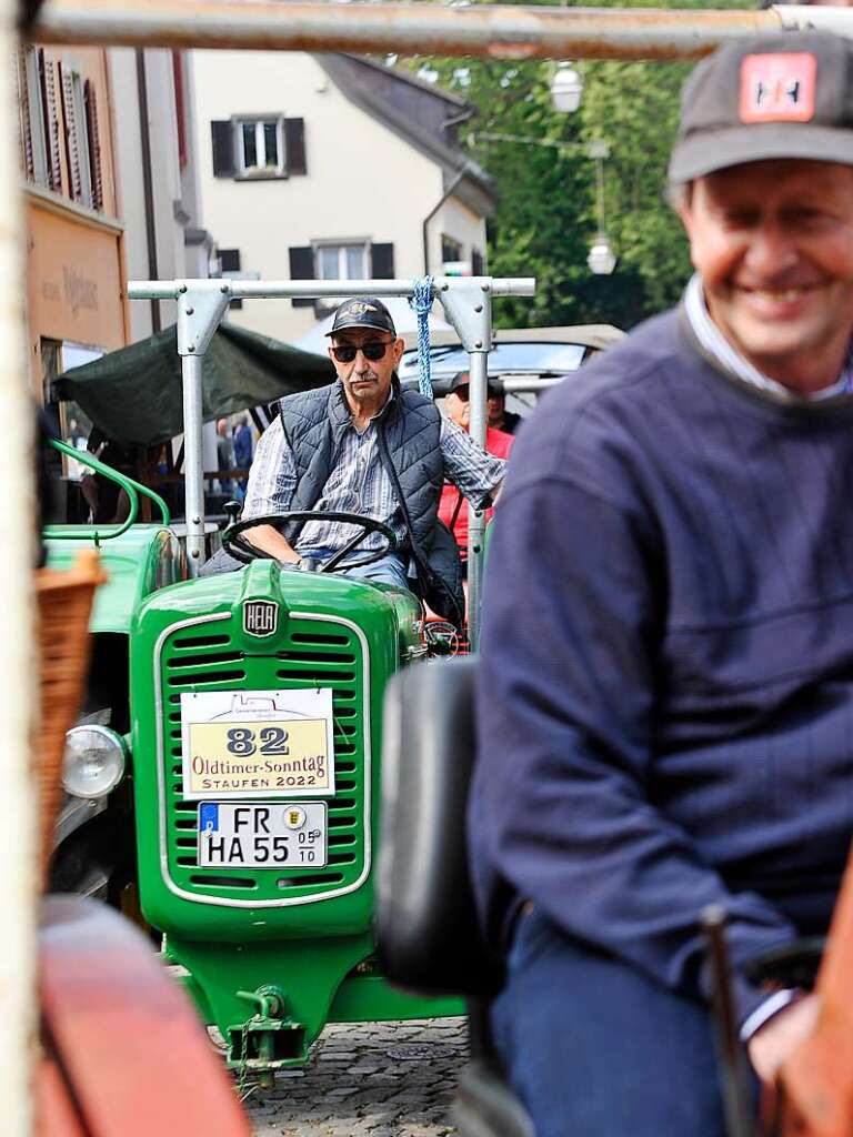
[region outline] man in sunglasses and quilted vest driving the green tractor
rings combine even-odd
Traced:
[[[258,442],[243,517],[287,511],[349,512],[387,524],[398,550],[353,568],[365,580],[414,587],[454,623],[464,617],[458,554],[438,522],[445,480],[486,508],[504,476],[504,463],[486,454],[430,399],[403,391],[396,368],[405,347],[381,300],[345,301],[332,324],[332,387],[291,395]],[[285,537],[272,525],[246,537],[284,564],[328,561],[353,537],[351,525],[323,520],[296,525]],[[371,533],[342,562],[379,548]]]

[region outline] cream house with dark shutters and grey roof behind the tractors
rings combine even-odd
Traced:
[[[485,269],[494,191],[456,143],[464,100],[353,56],[193,55],[201,209],[223,276]],[[262,300],[231,318],[292,342],[328,310]]]

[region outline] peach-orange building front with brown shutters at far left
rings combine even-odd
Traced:
[[[107,53],[22,47],[16,78],[30,373],[50,401],[60,371],[130,335]]]

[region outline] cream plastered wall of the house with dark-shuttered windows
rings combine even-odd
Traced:
[[[353,106],[308,55],[193,52],[202,214],[222,249],[239,249],[243,271],[265,280],[290,276],[288,250],[317,240],[392,242],[397,276],[423,266],[423,218],[440,200],[441,168]],[[260,182],[213,176],[210,122],[240,114],[305,119],[307,175]],[[440,234],[464,244],[485,226],[458,205],[431,223],[432,268]],[[461,226],[455,229],[442,226]],[[477,235],[471,233],[477,230]],[[231,318],[278,339],[296,340],[315,322],[312,308],[288,300],[247,301]]]

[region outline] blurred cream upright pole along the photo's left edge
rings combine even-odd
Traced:
[[[26,298],[20,172],[15,139],[14,59],[18,6],[0,0],[0,404],[10,429],[3,439],[6,492],[0,531],[0,675],[3,677],[3,745],[0,747],[0,832],[13,856],[0,857],[5,927],[0,936],[0,1102],[7,1137],[33,1128],[31,1076],[36,1047],[36,799],[31,764],[38,669],[33,605],[34,508],[33,401],[26,368]]]

